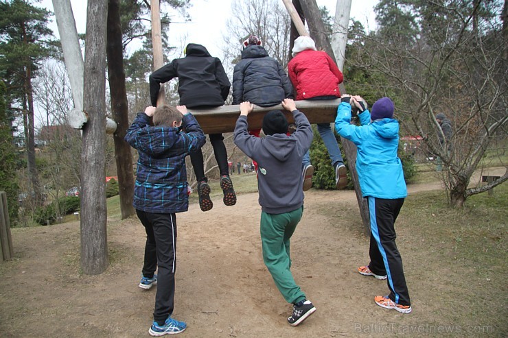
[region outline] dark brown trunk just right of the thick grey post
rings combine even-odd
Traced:
[[[130,151],[130,145],[124,140],[124,136],[129,127],[129,114],[125,85],[119,0],[109,0],[108,3],[108,38],[106,53],[108,56],[111,112],[113,112],[113,119],[117,123],[117,130],[115,134],[113,134],[113,140],[115,141],[120,210],[122,211],[122,219],[125,219],[135,213],[134,207],[132,206],[132,199],[134,197],[134,172],[132,171],[132,152]]]

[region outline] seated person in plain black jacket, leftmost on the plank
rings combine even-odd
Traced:
[[[205,47],[196,43],[189,43],[184,53],[185,58],[174,59],[150,75],[152,106],[157,106],[161,83],[168,82],[174,77],[178,77],[180,104],[195,109],[224,105],[231,83],[220,60],[210,56]],[[224,194],[222,200],[225,205],[233,206],[236,204],[236,194],[233,182],[229,178],[224,137],[222,134],[210,134],[210,143],[220,170],[220,188]],[[190,158],[198,180],[199,206],[201,210],[208,211],[213,208],[213,202],[210,199],[210,186],[205,176],[203,152],[198,149],[190,154]]]

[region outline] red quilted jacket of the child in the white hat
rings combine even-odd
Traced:
[[[288,64],[288,75],[297,89],[297,100],[328,95],[340,97],[338,84],[344,77],[325,51],[306,49],[299,52]]]

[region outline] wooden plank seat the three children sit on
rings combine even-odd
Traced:
[[[332,123],[335,121],[340,99],[305,100],[295,101],[295,103],[297,104],[297,109],[305,114],[310,123]],[[261,128],[266,112],[276,109],[282,110],[282,106],[280,104],[272,107],[254,106],[253,112],[249,114],[249,130]],[[189,112],[194,114],[205,134],[220,134],[235,130],[236,120],[240,116],[240,105],[220,106],[206,110],[189,108]],[[286,114],[290,123],[294,122],[291,112],[284,110],[284,114]]]

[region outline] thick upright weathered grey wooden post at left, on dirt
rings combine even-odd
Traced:
[[[81,195],[81,267],[101,274],[108,267],[106,232],[106,19],[108,4],[89,0],[86,9],[83,109],[89,121],[83,128]]]

